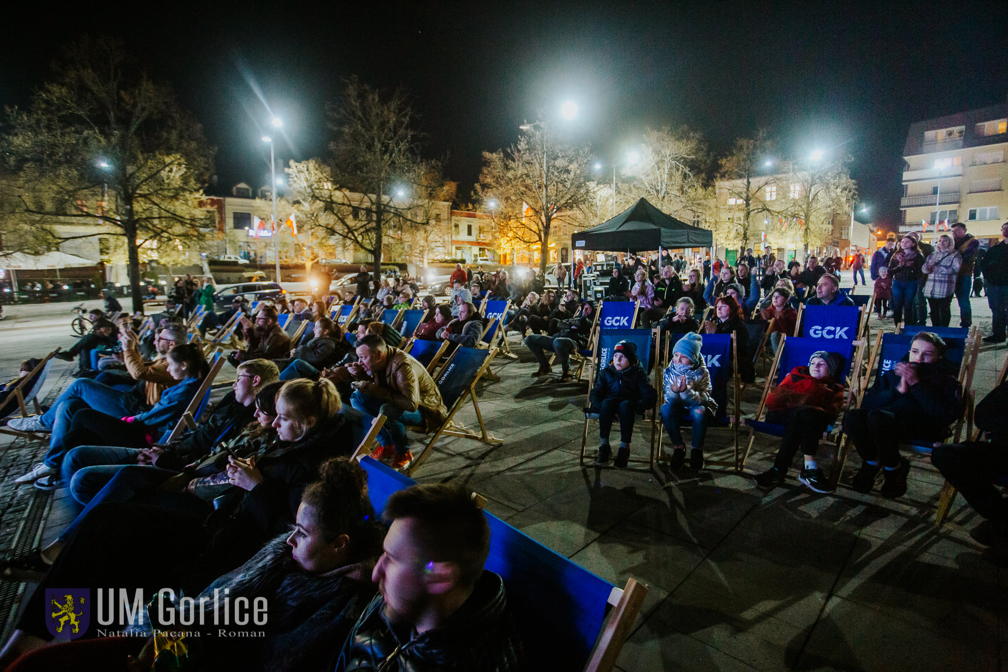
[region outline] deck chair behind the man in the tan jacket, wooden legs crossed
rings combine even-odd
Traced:
[[[448,416],[439,426],[432,429],[430,439],[407,467],[406,473],[408,475],[411,476],[423,463],[423,460],[430,454],[431,446],[440,438],[442,434],[475,438],[489,445],[500,445],[503,443],[501,439],[487,432],[487,427],[483,422],[483,413],[480,412],[480,402],[476,398],[476,382],[480,380],[480,376],[490,366],[496,354],[496,348],[483,350],[481,348],[463,348],[460,346],[452,353],[452,357],[448,358],[448,361],[445,362],[445,367],[442,369],[440,375],[437,376],[436,383],[437,390],[442,395],[442,401],[448,407]],[[473,401],[476,419],[480,423],[479,432],[468,429],[453,421],[455,414],[462,408],[467,398]],[[413,429],[421,432],[424,431],[423,427],[413,427]]]

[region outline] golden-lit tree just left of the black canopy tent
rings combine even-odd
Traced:
[[[497,201],[503,245],[538,246],[539,270],[546,271],[554,222],[571,221],[595,199],[587,146],[559,141],[550,126],[537,123],[516,144],[483,152],[476,200]]]

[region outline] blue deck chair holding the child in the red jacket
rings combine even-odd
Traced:
[[[771,389],[779,385],[780,382],[784,380],[784,377],[791,373],[792,369],[795,367],[807,366],[808,360],[811,358],[813,353],[822,350],[828,353],[833,353],[843,359],[843,378],[849,386],[847,399],[848,402],[850,402],[853,397],[853,389],[857,386],[858,374],[861,370],[861,360],[864,357],[864,344],[861,342],[858,342],[858,344],[859,345],[855,345],[855,342],[853,341],[840,339],[812,339],[807,337],[785,335],[781,340],[780,348],[777,349],[777,355],[774,357],[770,373],[767,374],[766,384],[763,386],[763,395],[760,397],[759,406],[756,408],[756,415],[754,415],[752,419],[746,420],[746,425],[749,427],[749,445],[746,447],[746,451],[743,453],[742,459],[740,460],[740,468],[745,468],[746,460],[749,458],[749,453],[752,450],[757,433],[768,434],[770,436],[784,435],[784,425],[778,425],[763,420],[763,411],[766,408],[766,398],[769,396]],[[833,434],[834,428],[828,428],[827,433]],[[834,442],[839,445],[838,441],[840,437],[834,435],[833,438]],[[835,469],[835,482],[839,476],[840,472]]]

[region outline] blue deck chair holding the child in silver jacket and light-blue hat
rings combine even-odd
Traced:
[[[651,418],[651,444],[655,444],[657,437],[657,451],[661,454],[661,442],[664,440],[664,427],[661,424],[661,415],[658,409],[665,402],[664,375],[665,368],[671,358],[672,349],[682,334],[666,333],[659,357],[654,367],[654,388],[658,391],[658,400],[655,412]],[[673,340],[674,339],[674,340]],[[704,357],[704,364],[711,375],[711,391],[718,410],[713,418],[708,419],[708,429],[729,429],[732,432],[735,453],[733,458],[728,459],[708,459],[705,458],[705,466],[739,466],[739,395],[740,378],[738,364],[738,342],[732,333],[701,333],[700,353]],[[729,394],[732,401],[729,406]],[[688,415],[682,418],[681,426],[692,426],[692,420]],[[652,448],[654,450],[654,448]]]

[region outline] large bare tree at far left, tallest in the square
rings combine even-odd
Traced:
[[[2,144],[21,187],[16,213],[43,226],[97,220],[117,231],[133,309],[142,310],[140,246],[192,242],[213,227],[200,208],[213,150],[171,91],[139,71],[120,41],[77,42],[57,72],[28,110],[7,110]]]

